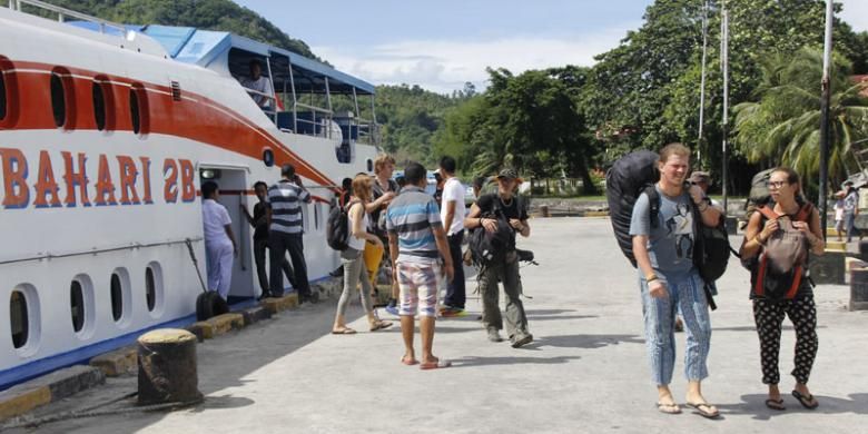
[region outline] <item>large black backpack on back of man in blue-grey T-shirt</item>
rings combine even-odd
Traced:
[[[633,205],[648,187],[653,186],[660,179],[657,170],[657,161],[660,156],[650,150],[639,150],[621,157],[605,174],[605,198],[609,203],[609,216],[612,220],[615,239],[621,251],[635,267],[633,256],[633,237],[630,236],[630,221],[633,218]],[[657,225],[657,211],[660,210],[660,201],[651,200],[651,224]]]

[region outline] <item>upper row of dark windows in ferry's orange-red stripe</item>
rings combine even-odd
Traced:
[[[2,60],[0,58],[0,60]],[[10,83],[6,77],[7,72],[2,65],[0,65],[0,121],[6,118],[13,110],[12,98],[10,97]],[[97,76],[91,83],[91,97],[93,102],[93,121],[97,129],[100,131],[112,130],[114,114],[115,114],[115,98],[114,90],[110,86],[108,77]],[[172,99],[180,99],[180,88],[177,83],[172,82]],[[69,71],[62,68],[56,68],[51,72],[50,79],[51,91],[51,112],[53,115],[55,125],[58,128],[72,129],[70,120],[75,117],[75,107],[72,102],[73,89],[72,77]],[[132,83],[129,88],[129,117],[132,126],[132,132],[137,135],[145,135],[148,131],[148,101],[145,87],[140,83]]]

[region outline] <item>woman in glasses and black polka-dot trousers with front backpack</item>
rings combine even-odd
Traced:
[[[760,339],[762,383],[769,387],[766,406],[786,410],[778,389],[778,356],[781,326],[788,316],[796,329],[792,396],[813,410],[819,403],[808,389],[808,379],[817,356],[817,306],[806,272],[808,257],[825,253],[820,215],[801,198],[799,175],[788,167],[771,172],[769,194],[771,201],[751,215],[741,245],[742,260],[751,264],[750,298]]]

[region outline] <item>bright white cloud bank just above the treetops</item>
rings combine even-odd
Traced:
[[[638,24],[637,24],[638,26]],[[374,47],[313,47],[337,69],[376,85],[420,85],[440,93],[462,89],[465,81],[487,86],[486,67],[513,73],[529,69],[580,65],[618,45],[627,29],[573,37],[514,36],[493,40],[412,40]]]

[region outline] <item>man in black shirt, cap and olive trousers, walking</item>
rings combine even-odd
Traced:
[[[497,175],[497,194],[483,195],[471,206],[464,227],[467,229],[484,228],[495,231],[499,218],[505,218],[510,227],[523,237],[531,235],[527,225],[527,209],[515,190],[521,179],[513,169],[503,169]],[[503,318],[499,306],[497,280],[503,282],[503,292],[506,295],[506,333],[512,347],[530,344],[533,335],[527,332],[527,316],[520,298],[521,280],[519,276],[519,255],[515,253],[514,238],[509,247],[506,259],[503,264],[483,266],[479,273],[480,292],[482,293],[483,313],[482,322],[489,333],[489,341],[503,341],[499,331],[503,328]]]

